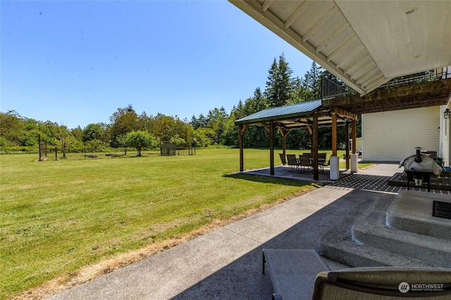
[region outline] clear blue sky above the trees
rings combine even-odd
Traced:
[[[284,53],[311,59],[228,1],[0,2],[0,111],[72,129],[140,114],[206,115],[265,89]]]

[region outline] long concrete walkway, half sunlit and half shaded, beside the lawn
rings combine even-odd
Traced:
[[[381,193],[397,193],[400,187],[385,190],[386,178],[397,171],[397,164],[378,164],[345,176],[342,185],[330,182],[51,299],[271,299],[262,249],[318,249],[321,236],[354,209],[369,207]],[[356,176],[360,185],[350,181]],[[345,267],[326,261],[333,269]]]

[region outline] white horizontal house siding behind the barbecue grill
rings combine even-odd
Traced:
[[[362,160],[400,162],[416,147],[439,151],[440,107],[362,115]]]

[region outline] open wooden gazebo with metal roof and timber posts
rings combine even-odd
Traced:
[[[351,171],[357,171],[356,154],[356,125],[357,114],[343,110],[340,107],[323,107],[322,100],[313,100],[280,107],[261,110],[252,115],[238,119],[235,125],[240,127],[240,171],[244,171],[244,146],[243,135],[249,125],[264,126],[269,133],[269,163],[271,175],[274,175],[274,132],[276,128],[283,138],[282,151],[285,155],[286,136],[295,129],[307,129],[311,135],[311,155],[313,157],[314,180],[319,179],[318,167],[318,129],[322,126],[332,127],[332,156],[330,157],[330,179],[339,179],[338,156],[337,156],[337,126],[344,125],[345,134],[350,136],[350,125],[352,125],[352,159]],[[347,167],[349,167],[350,148],[346,143]]]

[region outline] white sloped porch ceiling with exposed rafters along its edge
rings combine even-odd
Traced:
[[[229,1],[362,95],[451,65],[451,1]]]

